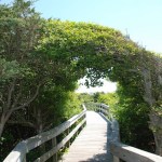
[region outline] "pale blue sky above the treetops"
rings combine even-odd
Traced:
[[[35,8],[45,18],[112,27],[147,50],[162,53],[162,0],[38,0]]]

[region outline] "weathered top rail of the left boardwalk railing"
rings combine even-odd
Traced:
[[[55,129],[52,129],[48,132],[43,132],[37,136],[28,138],[26,140],[21,141],[17,146],[11,151],[11,153],[4,159],[3,162],[23,162],[25,160],[26,153],[32,150],[33,148],[40,146],[41,144],[56,137],[65,130],[70,127],[75,122],[85,116],[85,107],[83,106],[83,111],[80,114],[73,116],[68,121],[58,125]]]

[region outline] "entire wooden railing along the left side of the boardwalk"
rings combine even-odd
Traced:
[[[60,148],[69,143],[71,137],[73,137],[75,134],[85,125],[86,109],[84,106],[83,109],[84,110],[80,114],[73,116],[57,127],[18,143],[3,162],[26,162],[26,154],[30,150],[41,147],[46,141],[51,141],[51,150],[41,154],[41,157],[37,158],[35,162],[44,162],[50,158],[53,158],[53,161],[57,162],[57,152]],[[65,132],[68,132],[68,134],[62,139],[62,141],[57,143],[57,136]]]

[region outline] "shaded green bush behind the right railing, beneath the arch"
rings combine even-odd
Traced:
[[[154,152],[153,135],[149,129],[148,104],[137,91],[130,91],[129,86],[118,89],[119,102],[113,111],[120,123],[121,140],[124,144]]]

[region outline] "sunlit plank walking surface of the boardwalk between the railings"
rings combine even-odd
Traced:
[[[86,112],[86,126],[71,144],[60,162],[111,162],[108,122],[94,111]]]

